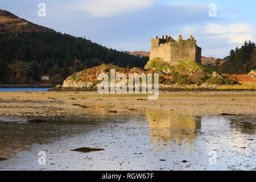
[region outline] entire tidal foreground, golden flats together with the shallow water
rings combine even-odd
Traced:
[[[83,92],[0,98],[0,170],[256,169],[255,92],[161,93],[155,101]],[[34,118],[47,122],[27,122]],[[82,147],[94,150],[76,150]],[[46,164],[38,164],[39,151]]]

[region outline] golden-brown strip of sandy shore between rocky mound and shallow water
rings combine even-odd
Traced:
[[[84,120],[108,115],[167,113],[180,115],[256,114],[256,91],[159,92],[99,94],[97,92],[0,92],[0,116]]]

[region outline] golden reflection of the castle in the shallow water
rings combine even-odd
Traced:
[[[151,143],[190,143],[195,142],[196,134],[201,132],[201,118],[177,115],[163,111],[147,111],[150,123]]]

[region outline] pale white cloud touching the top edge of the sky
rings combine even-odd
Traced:
[[[69,7],[84,11],[93,17],[113,16],[150,7],[153,0],[86,0],[72,3]]]

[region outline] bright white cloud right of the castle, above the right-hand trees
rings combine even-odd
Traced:
[[[254,40],[255,30],[249,23],[237,24],[207,24],[202,33],[211,34],[210,38],[224,38],[228,43],[243,43],[245,40]]]

